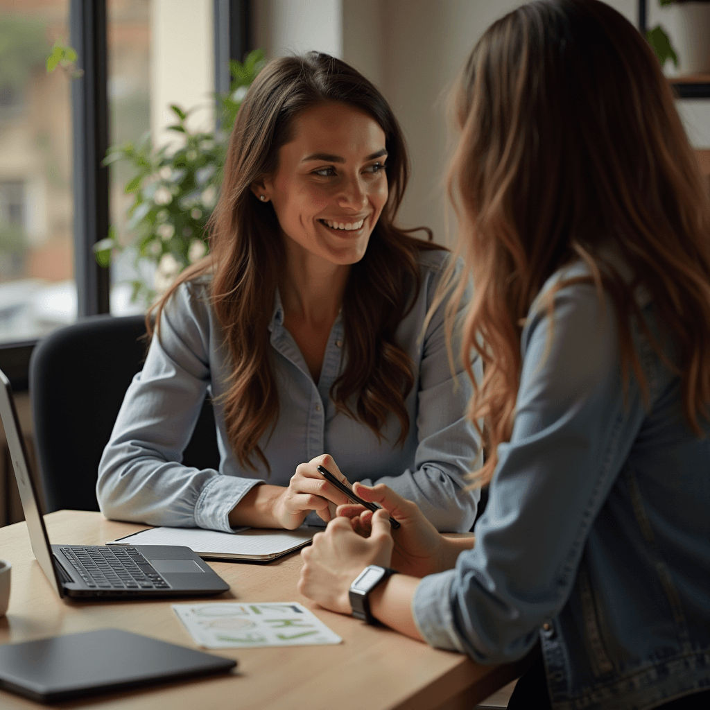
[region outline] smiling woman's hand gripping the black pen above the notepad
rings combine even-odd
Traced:
[[[307,464],[299,464],[295,474],[291,476],[288,488],[282,489],[283,492],[274,503],[273,515],[283,528],[297,528],[311,510],[315,510],[327,523],[334,518],[329,510],[329,503],[332,503],[335,509],[335,506],[347,502],[344,493],[329,484],[318,473],[316,466],[324,466],[337,479],[347,484],[333,457],[328,454],[311,459]]]

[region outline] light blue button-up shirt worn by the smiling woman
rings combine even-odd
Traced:
[[[410,430],[395,446],[400,425],[389,415],[378,437],[363,423],[337,412],[329,398],[346,359],[341,316],[332,327],[318,383],[283,327],[275,295],[271,366],[278,383],[279,417],[261,449],[271,465],[242,469],[229,447],[219,398],[230,365],[222,330],[207,297],[207,283],[181,285],[163,311],[143,366],[126,392],[99,464],[97,498],[107,518],[150,525],[229,531],[229,512],[257,484],[288,486],[296,466],[330,454],[349,481],[391,486],[415,501],[439,530],[470,530],[478,491],[464,491],[468,471],[481,465],[479,437],[464,417],[471,395],[466,373],[453,377],[444,337],[443,307],[422,337],[425,316],[449,259],[445,251],[420,253],[421,288],[396,332],[413,361],[415,386],[405,400]],[[465,307],[466,302],[461,307]],[[459,341],[454,339],[454,353]],[[459,368],[460,370],[460,368]],[[480,368],[478,370],[480,374]],[[214,400],[219,471],[182,466],[205,395]],[[314,513],[309,523],[322,523]]]

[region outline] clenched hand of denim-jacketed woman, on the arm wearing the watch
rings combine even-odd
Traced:
[[[368,566],[391,567],[393,540],[384,510],[371,515],[371,534],[361,537],[347,518],[334,518],[313,544],[301,550],[303,568],[298,591],[320,606],[342,614],[352,613],[349,590]]]

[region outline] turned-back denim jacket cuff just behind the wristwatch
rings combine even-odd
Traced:
[[[451,585],[456,570],[424,577],[412,598],[412,616],[422,638],[435,648],[465,653],[454,627]]]

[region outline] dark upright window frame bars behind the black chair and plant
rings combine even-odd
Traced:
[[[229,60],[244,60],[251,47],[250,0],[214,1],[214,86],[229,90]],[[94,259],[94,244],[109,230],[109,147],[106,0],[70,0],[70,44],[83,75],[72,82],[72,173],[77,319],[108,313],[110,271]],[[28,386],[37,340],[0,343],[0,369],[15,391]]]

